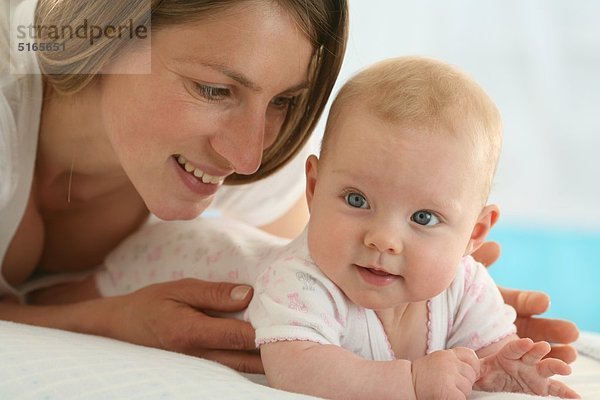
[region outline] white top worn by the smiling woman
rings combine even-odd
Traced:
[[[25,51],[9,56],[10,46],[16,46],[16,40],[11,43],[9,35],[16,32],[16,24],[28,26],[33,22],[37,0],[21,2],[10,14],[8,3],[0,4],[0,266],[29,199],[42,106],[42,82],[35,54]],[[9,24],[13,26],[10,30]],[[9,60],[13,70],[35,73],[11,74]],[[222,187],[213,208],[256,226],[275,221],[302,195],[304,161],[314,147],[312,140],[292,162],[260,182]],[[1,272],[0,269],[0,295],[17,294]]]

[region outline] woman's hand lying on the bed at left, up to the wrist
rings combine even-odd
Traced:
[[[251,287],[232,283],[182,279],[147,286],[103,299],[112,303],[107,336],[263,373],[252,326],[202,312],[241,311],[251,298]]]

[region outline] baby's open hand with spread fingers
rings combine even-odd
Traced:
[[[579,395],[552,375],[569,375],[571,368],[562,360],[542,358],[550,351],[547,342],[518,339],[496,354],[482,358],[475,389],[488,392],[523,392],[541,396],[578,399]]]

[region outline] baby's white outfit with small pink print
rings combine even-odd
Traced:
[[[156,223],[111,252],[96,284],[103,296],[117,296],[181,278],[253,285],[254,297],[238,318],[252,323],[257,345],[307,340],[366,359],[394,359],[375,312],[350,302],[315,265],[306,231],[288,244],[236,221]],[[515,333],[515,317],[486,268],[465,257],[450,287],[428,302],[427,352],[478,350]]]

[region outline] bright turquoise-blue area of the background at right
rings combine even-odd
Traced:
[[[489,236],[502,245],[490,273],[500,286],[550,295],[544,316],[568,319],[600,332],[600,233],[577,233],[498,224]]]

